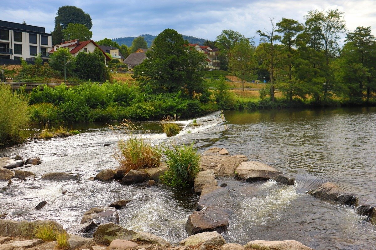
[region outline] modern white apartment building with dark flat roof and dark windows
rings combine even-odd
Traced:
[[[33,60],[41,53],[49,58],[52,36],[45,28],[0,20],[0,58]]]

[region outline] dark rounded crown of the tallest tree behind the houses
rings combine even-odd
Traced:
[[[55,17],[55,27],[57,24],[61,24],[63,30],[66,29],[69,24],[83,24],[88,30],[91,30],[92,27],[90,15],[76,6],[60,7]]]

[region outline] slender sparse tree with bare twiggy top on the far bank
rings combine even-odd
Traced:
[[[277,58],[277,51],[275,42],[280,40],[280,36],[275,34],[276,25],[274,24],[274,18],[270,18],[271,30],[265,29],[265,31],[257,30],[256,33],[259,34],[261,43],[261,48],[264,53],[259,53],[261,55],[261,60],[263,64],[268,68],[270,73],[270,100],[274,102],[274,73],[277,70],[277,64],[280,58]],[[259,51],[261,52],[261,51]]]

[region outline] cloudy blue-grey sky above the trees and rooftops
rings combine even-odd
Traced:
[[[77,6],[90,14],[93,40],[157,35],[165,28],[209,40],[215,40],[224,29],[254,37],[256,30],[270,27],[270,18],[275,22],[282,17],[304,22],[304,15],[314,9],[344,12],[348,30],[358,26],[376,28],[376,0],[12,0],[1,1],[0,20],[25,20],[45,27],[49,33],[63,5]]]

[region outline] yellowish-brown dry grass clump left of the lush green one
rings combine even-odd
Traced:
[[[111,129],[114,127],[110,126]],[[131,121],[123,120],[120,126],[127,133],[127,138],[118,140],[118,149],[115,150],[114,158],[120,163],[120,169],[128,172],[131,169],[155,168],[161,163],[161,151],[152,146],[137,132],[145,132],[141,127],[136,127]]]

